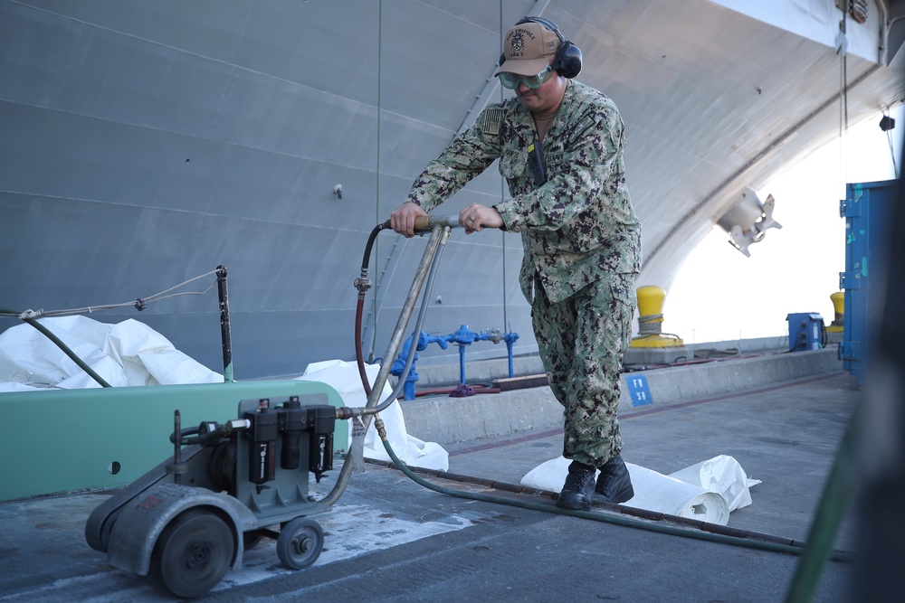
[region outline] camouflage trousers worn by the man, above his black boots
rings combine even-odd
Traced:
[[[602,466],[622,450],[619,372],[632,336],[634,275],[612,275],[551,303],[534,287],[531,319],[550,389],[563,405],[563,456]]]

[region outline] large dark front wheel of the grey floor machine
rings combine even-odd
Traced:
[[[200,597],[224,577],[234,552],[233,531],[224,520],[204,509],[189,509],[160,532],[148,578],[176,597]]]

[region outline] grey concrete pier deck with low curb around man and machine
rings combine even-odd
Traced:
[[[830,352],[645,372],[652,402],[621,410],[625,460],[670,473],[720,454],[735,457],[762,483],[751,488],[753,504],[731,514],[729,528],[755,539],[805,541],[861,396]],[[561,415],[547,387],[403,406],[409,433],[442,443],[450,455],[446,475],[419,476],[452,490],[555,508],[545,493],[517,492],[522,476],[561,452]],[[316,495],[331,486],[329,476],[317,486],[312,480]],[[170,600],[85,543],[85,520],[107,495],[0,504],[0,602]],[[265,539],[204,600],[777,601],[799,561],[439,494],[382,463],[353,476],[334,510],[318,520],[326,541],[313,566],[282,568],[274,542]],[[847,521],[836,547],[853,551],[855,537]],[[851,564],[831,561],[815,600],[852,600],[852,572]]]

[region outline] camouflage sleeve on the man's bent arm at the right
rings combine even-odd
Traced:
[[[624,148],[624,124],[613,105],[594,106],[569,128],[560,157],[550,162],[549,180],[494,207],[510,231],[557,230],[589,208],[606,203],[620,185],[614,174]]]

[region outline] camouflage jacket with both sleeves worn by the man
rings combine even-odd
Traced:
[[[418,176],[407,201],[430,212],[499,158],[512,196],[493,207],[506,230],[521,233],[519,283],[529,301],[535,275],[558,302],[595,280],[639,272],[641,222],[625,184],[624,124],[614,102],[567,82],[541,145],[547,182],[539,187],[528,152],[535,137],[518,99],[490,105]],[[633,303],[634,291],[618,294]]]

